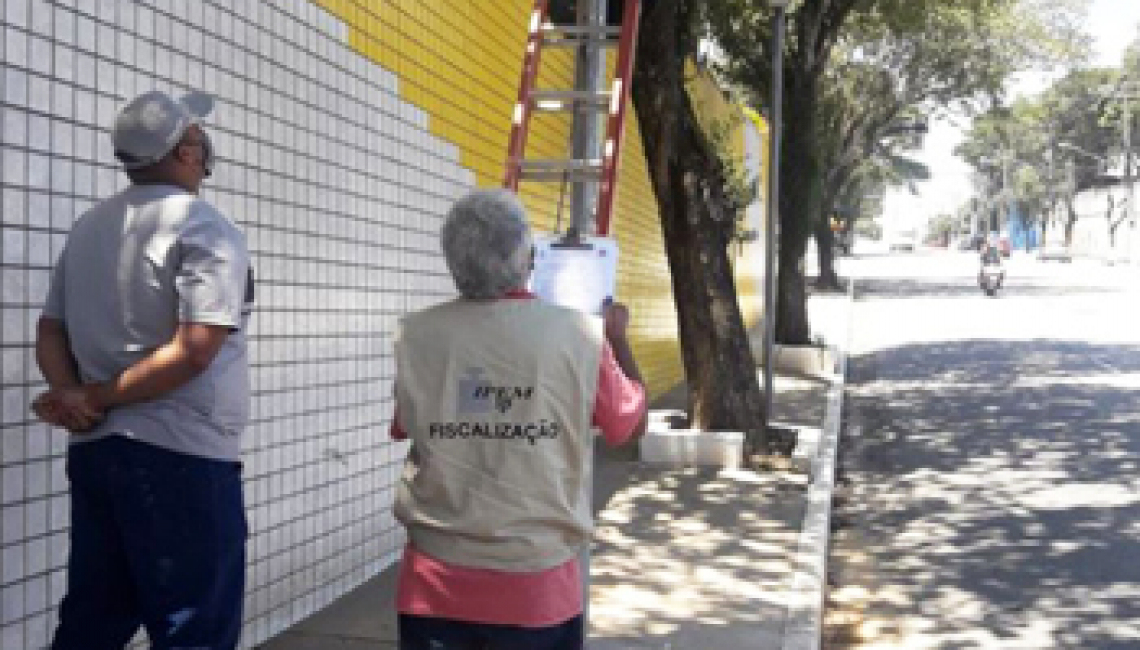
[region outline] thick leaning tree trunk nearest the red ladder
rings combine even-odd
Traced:
[[[726,170],[684,91],[695,1],[646,6],[633,104],[665,234],[693,425],[743,431],[747,458],[768,453],[764,399],[728,260]]]

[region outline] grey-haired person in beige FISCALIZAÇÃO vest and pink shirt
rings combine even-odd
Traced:
[[[577,650],[591,428],[611,445],[645,429],[629,312],[527,292],[534,247],[510,192],[461,198],[440,239],[461,298],[406,316],[396,343],[392,437],[412,440],[400,648]]]

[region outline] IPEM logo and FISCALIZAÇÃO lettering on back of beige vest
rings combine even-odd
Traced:
[[[458,422],[431,422],[427,424],[427,436],[438,439],[496,439],[523,440],[535,445],[543,438],[557,438],[562,431],[559,422],[539,420],[526,422],[479,422],[479,416],[502,415],[520,401],[529,401],[535,397],[535,387],[496,385],[483,376],[483,368],[469,367],[466,374],[457,380],[455,412]],[[510,415],[507,415],[510,417]]]

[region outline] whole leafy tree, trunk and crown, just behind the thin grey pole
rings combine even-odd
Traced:
[[[905,154],[906,120],[982,107],[1017,71],[1084,55],[1076,30],[1086,0],[793,0],[783,78],[776,339],[808,339],[799,257],[821,219],[858,196],[869,160]],[[754,106],[768,104],[767,0],[699,3],[719,74]],[[878,164],[878,163],[877,163]],[[874,166],[874,165],[872,165]],[[857,173],[858,172],[858,173]],[[825,247],[821,246],[821,250]],[[821,268],[821,274],[825,273]]]

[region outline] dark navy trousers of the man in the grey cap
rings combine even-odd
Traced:
[[[229,650],[242,628],[238,463],[119,436],[73,445],[67,594],[52,650]]]

